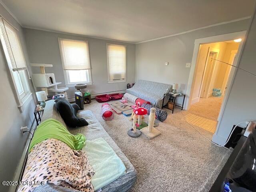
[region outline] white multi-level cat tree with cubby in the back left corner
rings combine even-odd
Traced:
[[[31,63],[30,65],[33,67],[40,67],[41,73],[32,74],[32,81],[35,87],[41,88],[42,91],[46,92],[46,95],[48,95],[48,92],[56,92],[58,94],[65,94],[66,98],[68,98],[66,93],[68,87],[58,88],[57,85],[61,84],[61,82],[56,82],[53,73],[45,72],[45,67],[52,67],[52,64]]]

